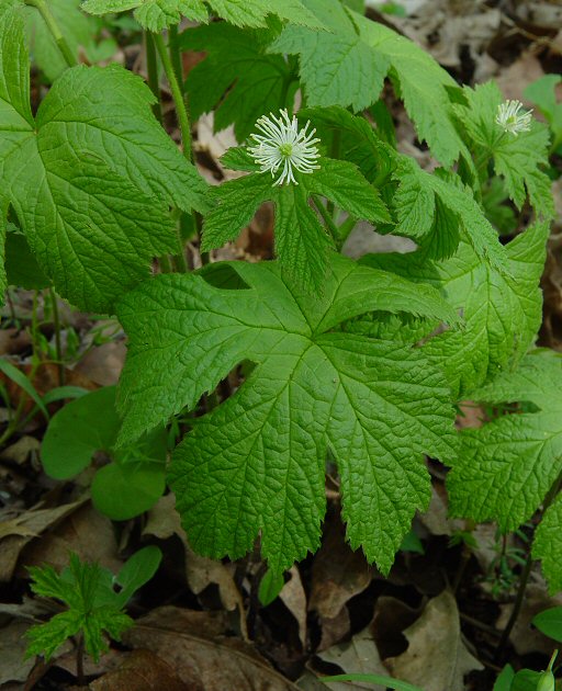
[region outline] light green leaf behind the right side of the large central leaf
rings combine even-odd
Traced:
[[[539,280],[546,258],[547,224],[537,224],[505,248],[507,273],[482,262],[467,242],[446,261],[416,254],[374,254],[362,262],[440,287],[461,311],[464,327],[431,338],[425,352],[443,367],[456,400],[515,366],[532,344],[541,322]],[[426,336],[434,325],[428,325]],[[420,338],[413,331],[413,341]],[[406,333],[407,336],[407,333]]]

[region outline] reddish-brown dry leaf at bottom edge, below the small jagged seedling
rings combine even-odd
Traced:
[[[133,650],[125,661],[90,683],[92,691],[190,691],[160,657],[150,650]]]

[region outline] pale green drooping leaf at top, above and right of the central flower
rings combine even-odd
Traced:
[[[454,80],[422,48],[395,32],[344,8],[338,0],[305,0],[329,32],[285,26],[270,50],[300,56],[308,105],[374,103],[390,76],[420,140],[450,166],[468,152],[452,123],[447,88]]]

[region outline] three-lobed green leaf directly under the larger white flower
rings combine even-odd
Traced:
[[[308,205],[308,199],[315,194],[324,196],[352,216],[372,222],[387,222],[390,216],[378,191],[352,163],[321,158],[318,166],[319,170],[312,174],[295,172],[297,185],[273,185],[267,172],[255,172],[212,190],[217,206],[205,218],[203,249],[233,240],[257,208],[272,201],[276,253],[280,262],[305,290],[321,291],[334,241]]]

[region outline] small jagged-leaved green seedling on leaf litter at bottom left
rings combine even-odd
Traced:
[[[135,591],[150,580],[160,559],[158,547],[144,547],[116,576],[99,564],[81,562],[76,554],[70,554],[70,564],[60,574],[52,566],[31,567],[33,592],[59,600],[68,609],[27,631],[27,656],[42,655],[48,660],[65,641],[78,637],[78,669],[83,650],[98,661],[108,649],[105,636],[120,641],[121,634],[133,625],[123,609]]]

